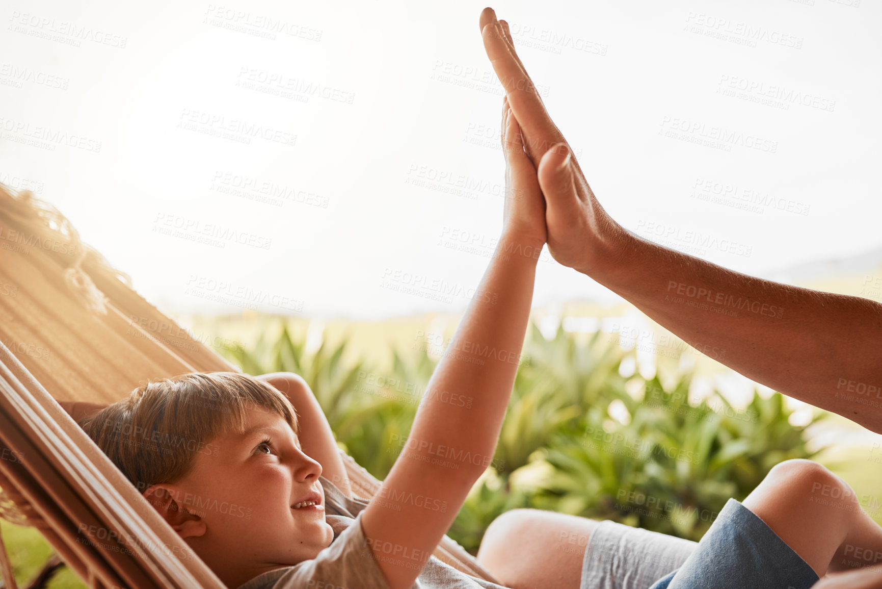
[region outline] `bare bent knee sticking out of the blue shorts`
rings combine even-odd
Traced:
[[[777,464],[744,500],[781,540],[823,577],[882,563],[882,528],[848,483],[811,460]]]

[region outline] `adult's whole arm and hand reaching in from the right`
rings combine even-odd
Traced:
[[[555,259],[752,380],[882,433],[882,305],[740,274],[624,230],[570,155],[505,21],[486,8],[481,26],[492,31],[484,48],[527,136]]]

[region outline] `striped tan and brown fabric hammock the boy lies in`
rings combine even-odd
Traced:
[[[56,401],[241,372],[179,328],[30,191],[0,184],[0,517],[32,525],[95,588],[225,589]],[[380,481],[340,450],[355,495]],[[438,559],[497,582],[449,537]],[[15,587],[0,540],[0,572]]]

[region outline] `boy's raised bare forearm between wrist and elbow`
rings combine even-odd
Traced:
[[[542,244],[504,236],[438,362],[403,452],[490,465],[518,370]],[[447,469],[437,469],[449,472]]]

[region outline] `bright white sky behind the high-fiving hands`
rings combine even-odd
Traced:
[[[485,5],[4,0],[0,181],[35,188],[166,312],[460,311],[430,285],[475,287],[502,217]],[[628,229],[759,276],[878,247],[878,2],[494,8]],[[701,145],[714,128],[744,139]],[[539,268],[536,306],[616,299]]]

